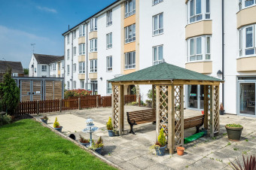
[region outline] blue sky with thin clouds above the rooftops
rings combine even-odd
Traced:
[[[35,53],[63,55],[62,33],[115,0],[0,0],[0,60],[29,67]]]

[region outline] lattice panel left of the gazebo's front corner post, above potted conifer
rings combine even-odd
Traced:
[[[160,86],[160,129],[166,134],[166,141],[168,141],[168,86]]]

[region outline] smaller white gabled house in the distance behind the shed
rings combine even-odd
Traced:
[[[64,56],[33,53],[29,62],[29,77],[64,77],[64,65]]]

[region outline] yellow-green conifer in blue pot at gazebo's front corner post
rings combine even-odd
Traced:
[[[160,130],[160,134],[157,139],[158,141],[156,144],[151,146],[151,150],[156,150],[157,156],[163,156],[166,150],[166,137],[164,136],[163,129]]]

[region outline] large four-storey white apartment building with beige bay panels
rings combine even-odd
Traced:
[[[226,113],[255,116],[255,32],[255,0],[118,0],[62,34],[66,87],[105,96],[108,80],[164,59],[225,80]],[[184,91],[185,108],[203,108],[203,86]]]

